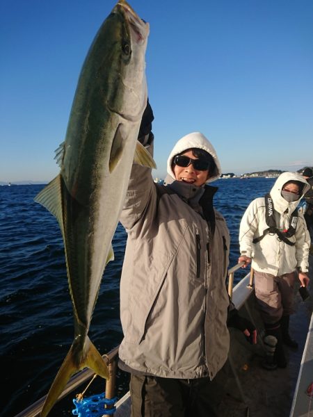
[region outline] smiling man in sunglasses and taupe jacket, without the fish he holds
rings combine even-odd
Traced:
[[[147,104],[138,139],[152,153]],[[119,366],[131,373],[131,415],[216,416],[216,374],[230,345],[228,325],[256,343],[256,331],[230,304],[230,236],[213,206],[220,177],[214,147],[202,133],[180,139],[168,177],[154,183],[134,164],[120,221],[127,247],[120,284],[124,339]]]

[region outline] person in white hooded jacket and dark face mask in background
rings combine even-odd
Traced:
[[[294,312],[294,283],[307,286],[310,236],[298,213],[300,198],[310,188],[296,172],[283,172],[271,192],[254,199],[243,215],[239,231],[241,256],[246,267],[252,261],[255,295],[267,335],[277,338],[273,369],[287,366],[283,343],[296,349],[289,336],[289,316]]]

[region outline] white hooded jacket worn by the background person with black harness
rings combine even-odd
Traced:
[[[310,188],[307,181],[297,172],[283,172],[275,181],[270,195],[275,208],[276,226],[282,231],[289,228],[289,220],[300,202],[287,202],[282,197],[282,187],[288,181],[303,183],[302,195]],[[307,231],[302,213],[298,213],[296,233],[289,240],[294,246],[284,243],[277,234],[267,234],[258,243],[252,243],[254,238],[262,236],[266,224],[266,204],[264,197],[253,200],[244,213],[239,230],[241,255],[252,258],[252,268],[258,272],[280,275],[293,272],[298,268],[307,272],[309,268],[310,235]]]

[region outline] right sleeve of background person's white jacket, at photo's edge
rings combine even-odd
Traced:
[[[309,270],[311,239],[302,213],[298,213],[298,225],[295,237],[297,267],[301,272],[307,272]]]

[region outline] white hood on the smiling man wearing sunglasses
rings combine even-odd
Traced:
[[[170,152],[170,156],[168,157],[167,170],[170,177],[175,179],[175,174],[172,172],[172,159],[174,156],[181,154],[182,152],[186,151],[186,149],[194,147],[198,149],[204,149],[204,151],[207,151],[209,154],[211,154],[216,164],[216,169],[214,172],[210,173],[210,177],[207,179],[207,183],[218,179],[222,174],[220,161],[218,161],[218,157],[211,142],[209,142],[209,140],[207,140],[207,138],[200,132],[188,133],[188,135],[184,136],[183,138],[179,139],[178,142],[176,142],[176,145],[173,147],[172,152]]]

